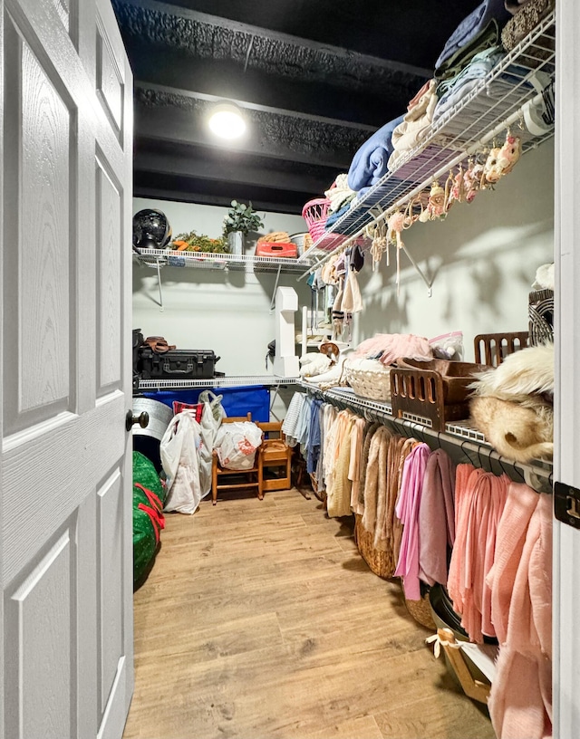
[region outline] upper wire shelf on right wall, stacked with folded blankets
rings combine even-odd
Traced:
[[[539,106],[542,91],[555,75],[555,14],[548,14],[531,34],[482,78],[457,106],[445,113],[420,144],[401,158],[399,166],[386,174],[344,216],[339,218],[298,261],[306,260],[324,243],[322,264],[336,251],[364,233],[366,226],[388,216],[408,203],[437,178],[447,178],[449,169],[466,162],[493,144],[508,126],[517,128],[522,152],[536,148],[554,135],[554,126],[524,125],[525,111]],[[541,129],[541,130],[540,130]],[[442,184],[442,183],[440,183]],[[338,237],[342,235],[342,240]],[[337,245],[328,250],[335,237]],[[312,265],[311,265],[312,267]]]

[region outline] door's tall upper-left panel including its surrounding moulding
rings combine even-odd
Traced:
[[[5,415],[7,437],[70,409],[69,191],[71,114],[28,44],[5,18],[4,212]],[[54,187],[53,187],[54,185]],[[41,361],[41,357],[43,358]]]

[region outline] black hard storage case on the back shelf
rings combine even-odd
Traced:
[[[170,349],[158,354],[149,346],[140,349],[142,379],[212,379],[216,357],[208,349]]]

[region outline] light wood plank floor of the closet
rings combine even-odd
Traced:
[[[297,490],[169,513],[124,739],[488,739],[398,582]]]

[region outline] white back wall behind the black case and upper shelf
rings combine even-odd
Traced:
[[[195,230],[212,238],[221,235],[227,208],[135,198],[133,213],[158,208],[169,218],[173,235]],[[260,211],[260,215],[263,215]],[[266,213],[262,234],[304,232],[302,216]],[[247,246],[251,253],[255,245]],[[157,273],[150,267],[133,270],[133,327],[145,336],[165,336],[179,349],[210,349],[221,357],[216,369],[227,375],[256,375],[266,371],[267,344],[275,337],[270,302],[275,274],[164,267],[161,270],[163,308],[160,310]],[[280,275],[281,285],[298,293],[300,305],[310,302],[310,288],[295,274]],[[296,313],[299,330],[300,314]],[[272,372],[271,362],[268,373]]]

